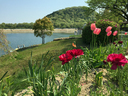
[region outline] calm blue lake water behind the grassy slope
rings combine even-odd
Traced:
[[[53,41],[54,38],[60,38],[60,37],[69,37],[70,35],[74,35],[73,33],[53,33],[51,36],[45,37],[45,43]],[[10,46],[15,49],[19,46],[25,45],[25,47],[41,44],[42,38],[34,36],[33,33],[10,33],[6,34],[7,40],[10,42]],[[0,51],[0,56],[4,53]]]

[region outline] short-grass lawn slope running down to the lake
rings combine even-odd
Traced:
[[[85,46],[85,44],[82,43],[81,39],[59,40],[59,41],[48,42],[43,45],[30,47],[27,49],[20,49],[11,54],[2,56],[0,57],[0,72],[1,72],[0,76],[6,71],[9,71],[8,75],[10,75],[22,70],[23,66],[26,67],[28,61],[30,60],[31,52],[32,52],[33,62],[37,62],[40,64],[42,54],[49,51],[50,55],[45,59],[50,58],[50,56],[55,57],[52,66],[54,66],[55,68],[58,67],[59,69],[59,67],[61,66],[61,62],[59,61],[58,56],[62,53],[65,53],[66,50],[72,49],[72,42],[74,41],[76,41],[78,47]]]

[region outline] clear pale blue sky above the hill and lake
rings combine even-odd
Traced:
[[[66,7],[87,6],[86,0],[0,0],[0,23],[35,22]]]

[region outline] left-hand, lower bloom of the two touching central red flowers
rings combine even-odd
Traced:
[[[59,56],[60,61],[62,61],[62,65],[64,65],[65,63],[69,62],[70,60],[72,60],[72,55],[69,53],[66,54],[62,54]]]

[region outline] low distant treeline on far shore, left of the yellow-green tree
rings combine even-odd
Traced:
[[[2,23],[0,29],[32,29],[34,23]]]

